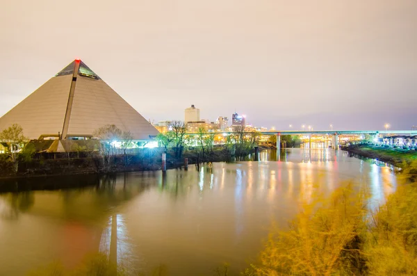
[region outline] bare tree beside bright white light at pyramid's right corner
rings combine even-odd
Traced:
[[[118,129],[114,124],[106,124],[93,132],[93,136],[100,140],[100,153],[103,156],[106,170],[110,169],[111,155],[115,152],[115,142],[121,140],[122,135],[122,130]]]

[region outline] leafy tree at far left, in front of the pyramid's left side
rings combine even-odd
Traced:
[[[8,156],[13,163],[13,171],[19,169],[19,152],[22,150],[28,138],[23,134],[23,129],[19,124],[12,124],[11,127],[3,129],[0,133],[0,140],[8,147]]]

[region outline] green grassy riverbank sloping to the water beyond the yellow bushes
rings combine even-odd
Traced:
[[[407,164],[417,160],[417,152],[414,150],[404,151],[400,149],[374,147],[371,145],[350,145],[343,146],[341,149],[351,154],[357,154],[358,156],[377,159],[399,168],[403,168],[404,163]]]

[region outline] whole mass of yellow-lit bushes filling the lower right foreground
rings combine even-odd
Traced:
[[[271,230],[246,275],[417,275],[416,171],[416,160],[404,165],[382,205],[366,185],[314,195],[288,227]]]

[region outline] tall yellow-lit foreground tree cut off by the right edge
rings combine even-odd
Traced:
[[[417,275],[416,197],[417,183],[400,184],[386,204],[371,213],[369,275]]]

